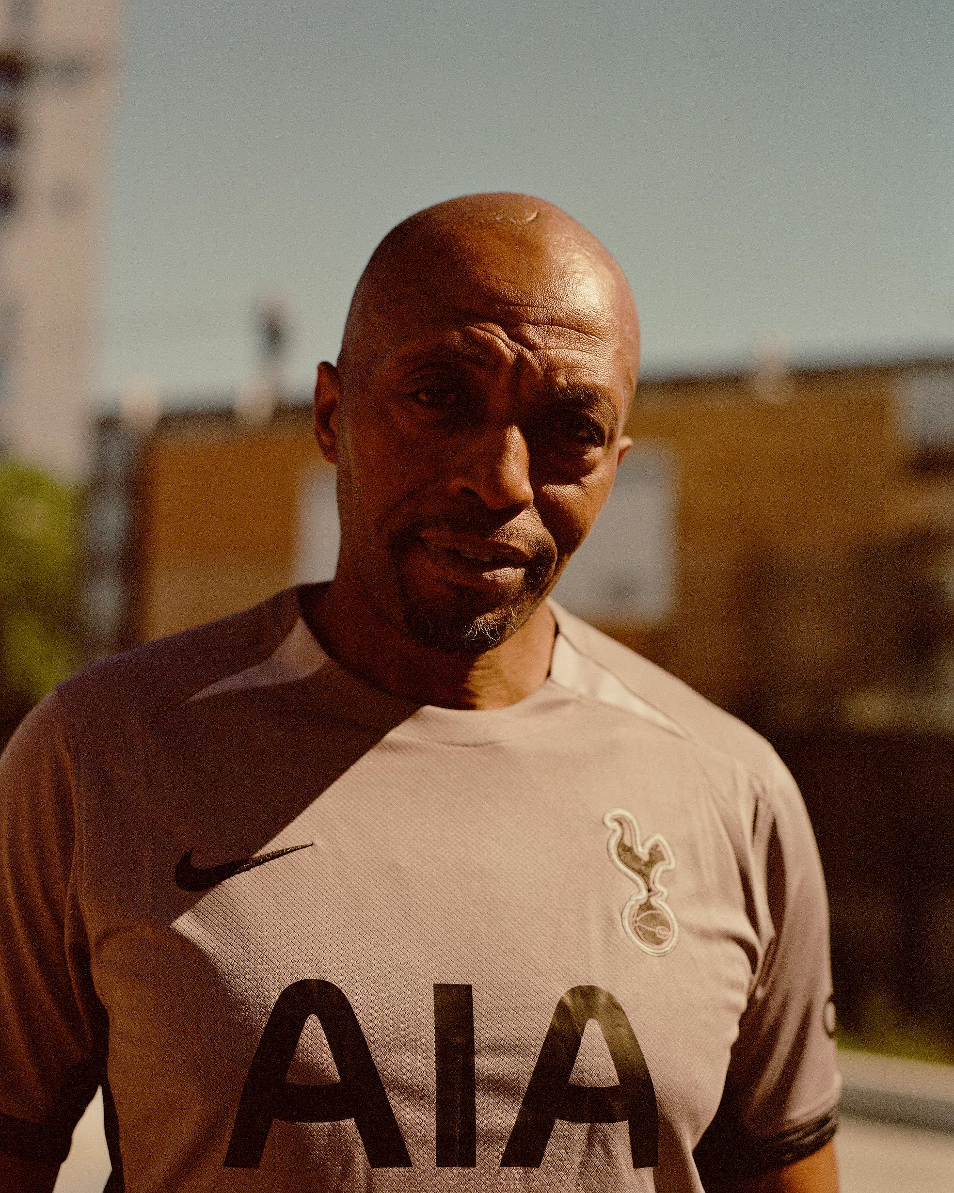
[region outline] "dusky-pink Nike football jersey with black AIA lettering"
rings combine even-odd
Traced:
[[[301,589],[63,684],[0,764],[0,1149],[110,1188],[689,1193],[817,1150],[828,913],[770,747],[552,606],[507,709]]]

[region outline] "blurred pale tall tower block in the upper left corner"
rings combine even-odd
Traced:
[[[91,462],[107,123],[122,0],[0,0],[0,446]]]

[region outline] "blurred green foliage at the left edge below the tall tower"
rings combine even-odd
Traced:
[[[76,493],[0,460],[0,712],[36,704],[79,665]]]

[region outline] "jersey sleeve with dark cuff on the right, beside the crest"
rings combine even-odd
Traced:
[[[721,1104],[695,1149],[704,1182],[745,1180],[811,1155],[837,1127],[828,896],[801,795],[773,754],[752,826],[762,963]]]

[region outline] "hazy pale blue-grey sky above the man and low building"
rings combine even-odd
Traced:
[[[954,354],[949,0],[131,0],[97,388],[221,394],[253,309],[337,352],[380,236],[469,191],[564,206],[644,371]]]

